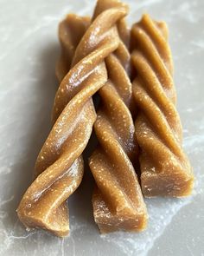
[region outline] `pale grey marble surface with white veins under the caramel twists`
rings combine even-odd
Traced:
[[[149,12],[169,24],[194,194],[185,200],[146,200],[150,223],[144,233],[101,236],[92,219],[86,168],[80,189],[69,200],[70,237],[26,232],[15,210],[50,128],[60,49],[57,26],[68,12],[91,15],[95,2],[0,0],[0,255],[204,255],[204,1],[125,2],[131,7],[130,23]]]

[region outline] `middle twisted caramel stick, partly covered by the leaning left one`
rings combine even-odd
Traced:
[[[110,1],[103,1],[108,6]],[[96,10],[97,11],[97,10]],[[99,89],[101,106],[94,130],[99,148],[90,158],[90,168],[97,186],[92,195],[94,220],[101,233],[118,230],[140,231],[146,226],[147,211],[137,174],[131,163],[137,155],[135,128],[130,106],[132,86],[130,54],[126,45],[129,30],[118,21],[118,49],[106,57],[108,81]]]

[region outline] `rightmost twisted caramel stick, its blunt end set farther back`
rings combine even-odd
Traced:
[[[165,23],[144,15],[131,30],[136,75],[133,94],[144,196],[186,196],[194,175],[182,150],[182,125],[175,109],[173,63]]]

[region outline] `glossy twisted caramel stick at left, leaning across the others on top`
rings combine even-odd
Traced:
[[[100,5],[100,1],[98,4]],[[63,79],[69,64],[61,68],[58,63],[57,74],[62,81],[54,100],[54,126],[37,158],[35,181],[23,195],[17,209],[19,219],[25,226],[41,227],[59,236],[69,232],[67,198],[80,185],[83,175],[81,154],[86,148],[96,120],[92,95],[107,81],[104,60],[118,48],[116,23],[126,13],[127,8],[124,5],[108,10],[98,8],[98,13],[92,18],[92,23],[74,55],[71,49],[65,49],[66,58],[71,53],[73,61],[70,71]],[[81,23],[83,33],[86,21],[82,20]],[[66,48],[63,38],[74,36],[76,31],[72,33],[72,26],[66,23],[61,26],[62,48]],[[72,46],[72,38],[67,43],[68,47]]]

